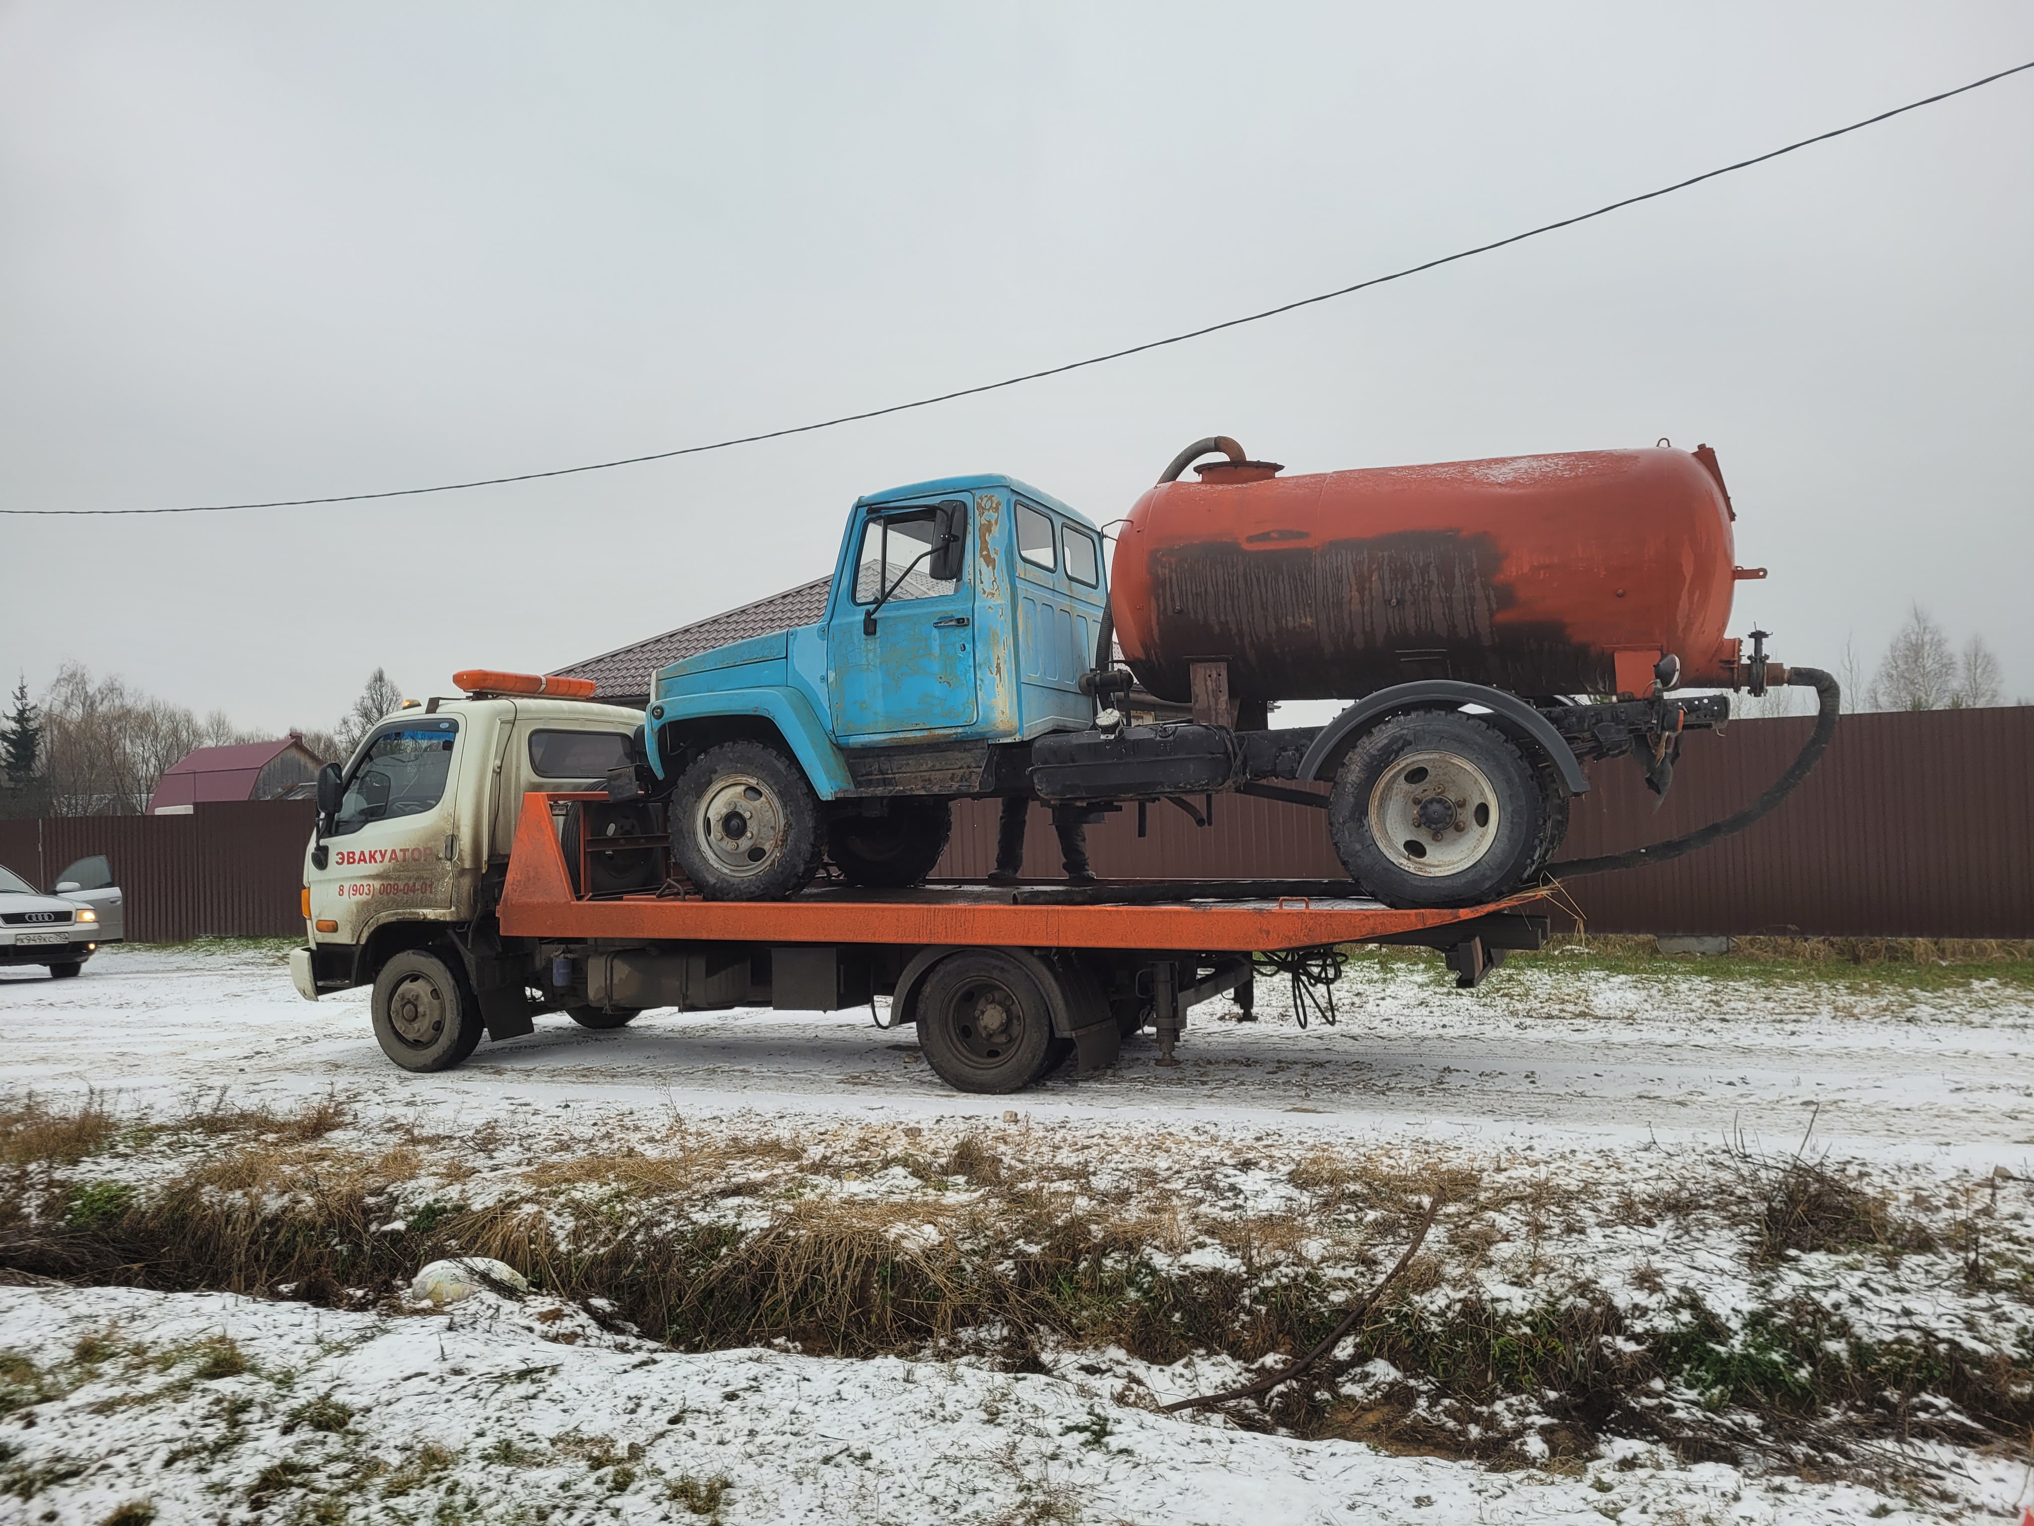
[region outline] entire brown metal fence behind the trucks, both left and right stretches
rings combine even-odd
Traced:
[[[1564,857],[1619,853],[1727,816],[1800,751],[1808,720],[1737,720],[1688,737],[1656,812],[1637,765],[1603,763],[1574,808]],[[1196,802],[1198,804],[1198,802]],[[309,802],[199,806],[191,816],[0,822],[0,863],[47,889],[104,853],[136,940],[303,930],[297,887]],[[1129,879],[1334,879],[1322,812],[1216,796],[1212,826],[1163,802],[1088,828],[1096,873]],[[962,802],[946,877],[995,863],[997,802]],[[1043,808],[1031,875],[1060,875]],[[1556,871],[1560,865],[1556,865]],[[2034,938],[2034,708],[1845,716],[1808,781],[1751,830],[1668,865],[1566,887],[1597,932],[1857,938]]]

